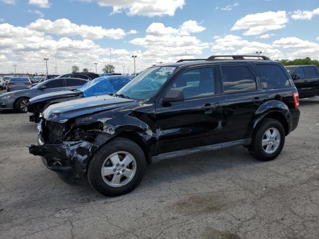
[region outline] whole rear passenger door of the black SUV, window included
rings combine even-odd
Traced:
[[[268,94],[248,64],[221,64],[223,82],[223,142],[243,139],[257,109],[268,101]]]

